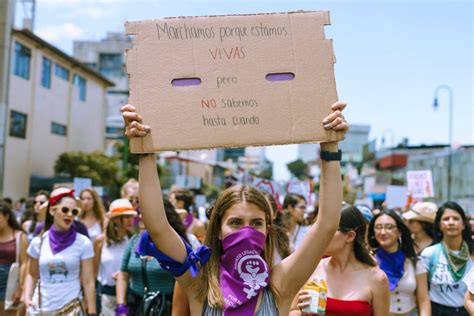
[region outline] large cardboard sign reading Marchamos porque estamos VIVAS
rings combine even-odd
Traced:
[[[130,100],[151,133],[135,153],[342,138],[328,12],[128,22]]]

